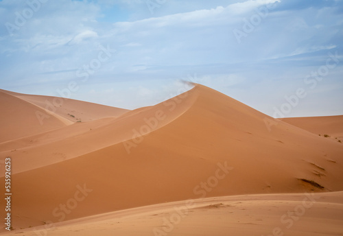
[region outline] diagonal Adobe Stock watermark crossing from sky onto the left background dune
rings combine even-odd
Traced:
[[[95,71],[99,70],[102,67],[102,64],[109,60],[113,54],[115,54],[116,50],[110,49],[109,45],[104,47],[103,45],[99,45],[99,52],[97,53],[97,57],[90,60],[88,63],[84,64],[78,71],[76,71],[76,76],[78,78],[82,78],[81,82],[87,82],[88,78],[95,73]],[[80,88],[79,86],[80,81],[77,82],[75,80],[69,82],[66,88],[63,89],[56,89],[56,93],[60,95],[60,97],[54,97],[52,102],[45,99],[45,113],[41,112],[40,110],[36,110],[36,117],[40,123],[43,125],[45,119],[49,119],[51,114],[56,113],[57,108],[62,106],[65,99],[71,98],[71,94],[78,91]]]

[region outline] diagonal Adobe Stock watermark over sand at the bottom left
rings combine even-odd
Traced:
[[[65,204],[60,204],[52,211],[52,215],[54,217],[58,217],[58,222],[62,222],[66,214],[70,214],[73,209],[78,207],[78,203],[82,202],[88,196],[88,193],[91,193],[93,189],[87,189],[86,184],[81,187],[80,185],[76,185],[76,191],[73,195],[73,198],[69,198]],[[56,224],[50,220],[44,222],[44,228],[40,230],[34,230],[34,233],[38,236],[47,236],[49,231],[52,231],[56,228]]]

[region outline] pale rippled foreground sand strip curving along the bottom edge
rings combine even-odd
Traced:
[[[168,202],[1,235],[343,235],[343,192]]]

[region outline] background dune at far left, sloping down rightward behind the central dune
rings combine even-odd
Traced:
[[[60,97],[0,89],[0,143],[63,128],[78,121],[118,117],[128,110]]]

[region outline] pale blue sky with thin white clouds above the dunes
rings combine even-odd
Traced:
[[[134,109],[209,86],[343,115],[343,0],[2,0],[0,88]]]

